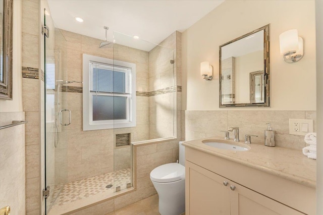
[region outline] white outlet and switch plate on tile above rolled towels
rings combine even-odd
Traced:
[[[313,120],[289,119],[289,134],[305,136],[307,133],[313,132],[313,125]],[[302,131],[306,127],[308,131]]]

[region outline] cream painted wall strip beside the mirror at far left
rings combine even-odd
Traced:
[[[13,14],[13,100],[0,100],[0,112],[22,111],[21,81],[21,1],[14,1]]]

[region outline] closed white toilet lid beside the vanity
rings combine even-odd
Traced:
[[[161,165],[151,171],[150,179],[164,183],[185,179],[185,167],[178,163]]]

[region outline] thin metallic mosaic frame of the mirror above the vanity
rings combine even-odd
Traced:
[[[264,73],[264,102],[262,103],[239,103],[239,104],[222,104],[222,68],[221,68],[221,48],[225,45],[228,45],[230,43],[233,43],[239,39],[242,39],[244,37],[250,36],[251,34],[254,34],[258,31],[263,30],[263,73]],[[262,107],[270,107],[270,24],[265,25],[261,28],[258,28],[254,31],[251,31],[245,35],[242,35],[236,39],[233,39],[229,42],[226,42],[219,46],[219,107],[220,108],[227,108],[227,107],[235,107],[235,106],[262,106]],[[249,85],[249,84],[248,84]]]

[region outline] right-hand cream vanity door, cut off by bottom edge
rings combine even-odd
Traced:
[[[304,214],[235,182],[230,186],[234,186],[230,189],[231,215]]]

